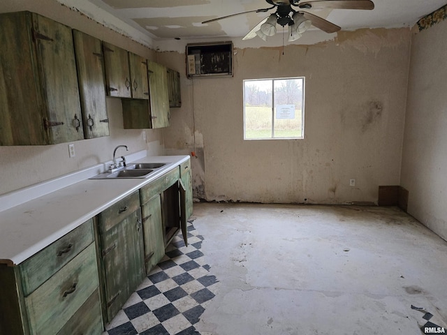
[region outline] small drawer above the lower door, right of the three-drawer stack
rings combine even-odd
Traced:
[[[102,211],[99,216],[101,232],[106,232],[117,223],[121,222],[140,207],[140,195],[138,191],[132,193],[123,200],[112,204]]]

